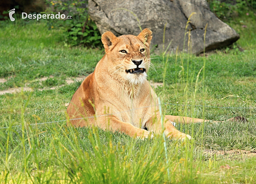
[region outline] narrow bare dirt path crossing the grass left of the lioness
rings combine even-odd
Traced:
[[[40,79],[35,79],[34,81],[45,81],[47,80],[48,78],[53,78],[54,76],[50,75],[49,77],[42,77]],[[79,77],[69,77],[67,78],[65,81],[67,82],[67,84],[72,84],[73,82],[76,82],[76,81],[81,81],[81,80],[84,80],[86,78],[86,76],[79,76]],[[4,79],[4,78],[0,78],[0,83],[4,83],[6,82],[7,80]],[[33,91],[32,88],[29,88],[27,87],[29,85],[29,83],[26,83],[25,84],[25,87],[19,87],[19,88],[9,88],[7,90],[3,90],[3,91],[0,91],[0,95],[3,95],[3,94],[6,94],[6,93],[20,93],[22,90],[23,91]],[[64,85],[60,85],[60,86],[53,86],[51,88],[43,88],[43,89],[38,89],[39,91],[43,91],[43,90],[46,90],[46,89],[51,89],[51,90],[54,90],[56,88],[60,88]]]

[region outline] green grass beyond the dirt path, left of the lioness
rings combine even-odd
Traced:
[[[103,51],[64,47],[60,30],[44,23],[3,24],[0,33],[0,77],[9,79],[0,90],[21,87],[42,76],[78,76],[93,72]]]

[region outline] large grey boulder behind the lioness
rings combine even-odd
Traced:
[[[191,17],[187,27],[187,31],[191,30],[192,53],[204,51],[204,28],[207,23],[206,50],[224,47],[239,39],[239,34],[233,28],[210,11],[205,0],[89,0],[88,8],[101,34],[112,31],[116,36],[137,35],[140,33],[138,18],[142,28],[153,31],[151,46],[157,45],[160,52],[163,51],[166,23],[165,48],[171,42],[169,51],[175,53],[177,46],[180,51],[183,50],[185,27],[192,12],[196,14]],[[185,51],[188,51],[187,45],[188,34]]]

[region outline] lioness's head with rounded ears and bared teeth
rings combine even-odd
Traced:
[[[148,28],[138,36],[116,37],[111,31],[102,34],[110,74],[134,85],[145,82],[150,65],[151,39],[152,31]]]

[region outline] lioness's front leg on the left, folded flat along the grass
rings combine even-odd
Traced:
[[[149,132],[142,128],[135,127],[131,123],[122,122],[116,116],[100,116],[96,120],[96,125],[104,130],[123,132],[131,137],[148,138]]]

